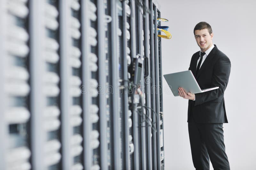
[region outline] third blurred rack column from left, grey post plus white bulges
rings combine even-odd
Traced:
[[[62,168],[83,169],[81,2],[60,1]],[[92,135],[92,134],[90,134]],[[94,134],[97,136],[97,133]]]

